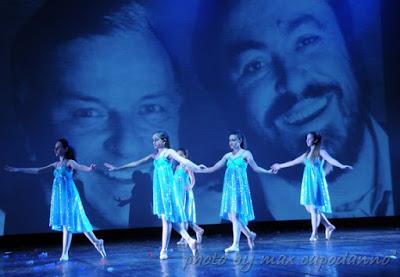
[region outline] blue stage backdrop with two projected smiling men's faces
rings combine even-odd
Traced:
[[[4,1],[1,164],[52,163],[65,137],[97,164],[75,175],[95,228],[151,227],[152,163],[103,163],[154,152],[155,131],[211,166],[239,129],[265,168],[302,155],[317,131],[354,167],[327,176],[328,216],[394,215],[380,11],[377,0]],[[256,221],[309,218],[302,171],[248,168]],[[201,225],[220,222],[223,174],[196,174]],[[52,172],[0,176],[0,232],[49,232]]]

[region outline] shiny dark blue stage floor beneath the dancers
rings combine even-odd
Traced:
[[[161,229],[160,229],[161,237]],[[400,276],[400,231],[343,229],[330,241],[308,241],[309,233],[259,233],[249,251],[224,255],[230,234],[205,236],[199,255],[171,240],[169,259],[159,260],[160,240],[106,242],[107,260],[89,244],[72,242],[70,260],[59,263],[56,246],[2,252],[4,276]],[[61,236],[60,236],[61,243]],[[11,251],[11,250],[10,250]]]

